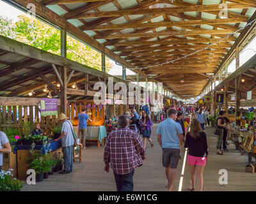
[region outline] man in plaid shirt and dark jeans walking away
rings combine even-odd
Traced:
[[[109,163],[114,171],[117,191],[133,191],[134,169],[142,165],[145,149],[140,135],[128,128],[125,115],[118,118],[118,130],[112,131],[104,150],[105,171]]]

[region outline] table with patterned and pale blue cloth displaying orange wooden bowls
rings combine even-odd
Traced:
[[[74,131],[78,134],[78,126],[73,126]],[[105,126],[89,126],[87,127],[87,135],[86,140],[95,140],[97,141],[98,147],[100,148],[100,144],[102,144],[103,138],[107,137]]]

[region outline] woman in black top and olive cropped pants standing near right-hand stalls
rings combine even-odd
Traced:
[[[225,113],[223,112],[223,110],[221,110],[217,119],[216,133],[214,133],[215,135],[217,135],[217,154],[223,154],[223,152],[221,152],[221,144],[223,140],[223,129],[226,127],[224,117]]]

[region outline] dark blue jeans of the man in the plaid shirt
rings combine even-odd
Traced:
[[[133,191],[134,170],[127,174],[117,174],[114,172],[117,191]]]

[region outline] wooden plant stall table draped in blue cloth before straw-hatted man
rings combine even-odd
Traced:
[[[31,145],[15,145],[13,148],[13,154],[16,156],[16,178],[21,180],[26,180],[28,175],[27,171],[29,169],[26,159],[31,156],[29,152]],[[62,154],[61,152],[61,140],[51,142],[51,145],[47,149],[43,145],[35,145],[35,150],[41,150],[41,154],[45,154],[46,150],[51,150],[49,154]]]

